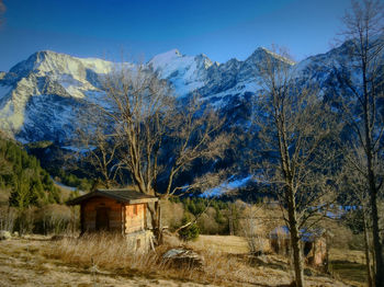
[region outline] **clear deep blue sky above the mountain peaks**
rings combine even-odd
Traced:
[[[146,61],[177,48],[213,61],[257,47],[295,60],[330,49],[350,0],[3,0],[0,71],[37,50]],[[123,55],[123,56],[122,56]]]

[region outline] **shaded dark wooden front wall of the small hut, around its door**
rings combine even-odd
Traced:
[[[122,204],[108,197],[92,197],[81,204],[82,232],[97,231],[98,209],[105,209],[108,231],[122,231]]]

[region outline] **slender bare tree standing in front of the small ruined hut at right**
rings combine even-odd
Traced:
[[[328,148],[336,131],[329,107],[317,89],[297,87],[284,51],[260,62],[263,91],[257,95],[253,119],[263,159],[256,164],[259,181],[274,188],[290,230],[296,286],[304,286],[301,238],[323,217],[330,196],[335,154]],[[278,57],[276,57],[278,56]]]

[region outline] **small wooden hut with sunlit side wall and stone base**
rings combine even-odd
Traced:
[[[80,205],[80,230],[86,232],[117,232],[127,238],[136,250],[148,250],[153,233],[147,226],[147,204],[155,196],[133,188],[95,190],[68,205]]]

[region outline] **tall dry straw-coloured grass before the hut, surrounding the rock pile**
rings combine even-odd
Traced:
[[[181,242],[173,243],[180,245]],[[64,238],[46,255],[90,272],[112,272],[128,277],[145,275],[151,278],[241,286],[255,284],[260,276],[269,276],[264,271],[245,264],[244,259],[214,249],[194,249],[204,257],[203,268],[178,268],[162,261],[162,254],[173,246],[168,243],[155,252],[132,253],[121,236],[89,234],[80,239]],[[289,278],[282,280],[287,282]]]

